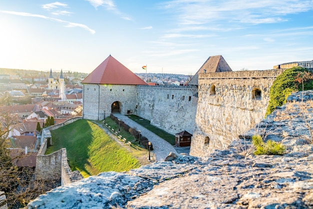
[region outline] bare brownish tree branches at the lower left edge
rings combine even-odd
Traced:
[[[32,169],[17,167],[13,163],[19,156],[10,156],[8,133],[15,118],[8,112],[0,112],[0,118],[0,191],[6,196],[6,200],[0,202],[0,207],[7,204],[9,208],[19,208],[50,188],[45,186],[43,180],[31,179],[34,174]]]

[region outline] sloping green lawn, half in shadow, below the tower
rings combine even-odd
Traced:
[[[65,147],[71,170],[87,177],[104,171],[126,171],[140,166],[129,151],[113,141],[98,125],[80,119],[51,130],[52,146],[45,154]]]

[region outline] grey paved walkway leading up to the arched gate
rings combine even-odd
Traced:
[[[120,113],[113,113],[115,117],[121,119],[129,125],[130,127],[135,127],[137,130],[141,130],[141,135],[145,136],[149,141],[151,141],[153,145],[153,152],[155,154],[156,161],[162,161],[165,159],[165,157],[170,153],[177,153],[175,148],[165,141],[163,138],[159,137],[155,133],[149,131],[145,127],[139,125],[132,119],[129,119],[126,115],[120,114]]]

